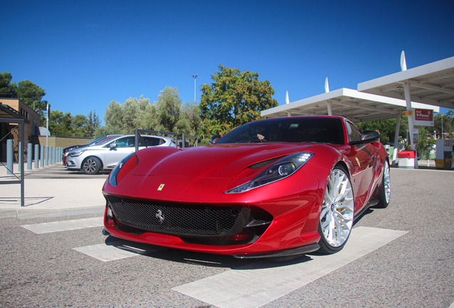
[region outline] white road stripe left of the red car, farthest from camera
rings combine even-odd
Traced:
[[[44,222],[34,225],[21,225],[26,230],[36,234],[51,232],[79,230],[89,227],[102,227],[104,225],[103,217],[84,218],[79,220],[64,220],[59,222]]]

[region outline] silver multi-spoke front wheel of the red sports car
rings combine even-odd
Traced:
[[[318,220],[321,235],[318,253],[333,254],[342,250],[350,236],[355,212],[355,197],[347,171],[337,165],[326,184]]]

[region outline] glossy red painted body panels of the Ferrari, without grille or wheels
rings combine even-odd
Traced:
[[[348,140],[346,132],[344,126],[345,140]],[[107,218],[104,225],[111,235],[125,240],[222,255],[254,255],[312,245],[320,240],[321,204],[327,179],[336,165],[342,164],[350,173],[355,214],[378,194],[387,159],[385,148],[381,143],[361,147],[324,143],[242,143],[184,150],[140,150],[136,153],[138,165],[129,160],[118,174],[116,187],[106,181],[103,188],[106,198],[115,195],[218,207],[241,205],[266,210],[273,215],[273,222],[256,242],[226,246],[193,244],[173,235],[153,232],[134,235],[117,230],[114,221]],[[251,170],[248,166],[303,151],[315,155],[288,178],[244,193],[225,193],[248,182],[267,167]],[[161,184],[165,185],[159,191]]]

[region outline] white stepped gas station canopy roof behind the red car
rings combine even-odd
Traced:
[[[403,61],[402,61],[403,60]],[[401,65],[405,56],[401,58]],[[406,69],[358,84],[358,91],[340,88],[261,112],[261,116],[345,116],[355,123],[400,118],[411,108],[454,109],[454,57]],[[405,97],[405,88],[409,91]]]

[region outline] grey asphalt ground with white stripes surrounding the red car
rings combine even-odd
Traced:
[[[75,192],[61,208],[54,202],[44,209],[59,193],[41,188],[50,200],[0,220],[0,307],[447,308],[454,302],[452,171],[392,168],[389,207],[367,210],[344,250],[287,261],[106,237],[104,205],[80,206],[100,200],[103,178],[46,180],[39,173],[26,176],[26,188],[41,181]],[[92,192],[91,185],[99,186]],[[0,185],[0,205],[12,202],[4,197],[11,186]]]

